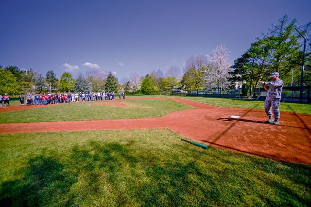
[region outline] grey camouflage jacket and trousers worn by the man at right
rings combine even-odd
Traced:
[[[272,117],[272,111],[274,113],[275,119],[280,118],[280,111],[278,106],[280,105],[283,80],[277,79],[272,82],[266,82],[268,86],[267,97],[264,102],[264,111],[269,117]],[[271,111],[272,107],[272,111]]]

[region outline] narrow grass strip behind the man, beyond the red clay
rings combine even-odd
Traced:
[[[262,109],[262,110],[264,109],[264,101],[242,100],[233,98],[211,98],[200,96],[199,97],[181,96],[181,98],[220,107]],[[279,109],[280,111],[311,114],[311,104],[281,102]]]

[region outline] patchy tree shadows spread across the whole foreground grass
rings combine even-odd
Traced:
[[[103,202],[105,194],[109,196],[101,205],[108,206],[286,206],[294,202],[308,206],[311,202],[310,194],[301,195],[283,180],[273,180],[274,176],[271,181],[262,181],[275,174],[308,192],[310,166],[216,149],[180,148],[186,152],[183,156],[148,150],[134,141],[90,141],[74,146],[66,164],[42,155],[29,159],[20,179],[0,186],[0,206],[89,206],[94,199]],[[263,175],[257,174],[258,170]],[[83,185],[74,191],[76,183]],[[103,192],[103,186],[109,186],[109,192]],[[265,188],[277,195],[271,198]]]

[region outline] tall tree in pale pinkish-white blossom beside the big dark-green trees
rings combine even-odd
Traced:
[[[229,84],[229,71],[231,71],[231,63],[229,59],[229,51],[223,46],[217,46],[210,55],[209,64],[205,69],[205,85],[206,87],[217,87],[219,94],[220,88],[225,88]]]

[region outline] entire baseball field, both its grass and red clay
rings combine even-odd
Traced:
[[[274,126],[262,101],[13,102],[0,108],[0,206],[310,206],[311,105],[280,111]]]

